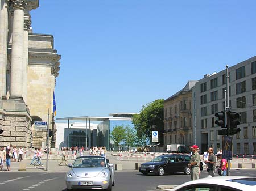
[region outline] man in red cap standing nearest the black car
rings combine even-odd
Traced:
[[[191,180],[197,180],[199,179],[200,175],[200,155],[198,153],[199,148],[197,145],[193,145],[190,148],[192,149],[192,155],[188,167],[191,169]]]

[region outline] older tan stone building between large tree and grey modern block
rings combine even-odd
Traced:
[[[164,100],[164,150],[168,144],[192,145],[192,87],[196,81],[189,81],[185,87]]]

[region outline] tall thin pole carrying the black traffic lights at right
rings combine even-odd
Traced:
[[[226,118],[226,135],[229,136],[229,129],[230,129],[230,123],[229,123],[229,66],[226,65],[226,96],[225,96],[225,118]],[[223,147],[223,145],[222,145]],[[226,175],[230,176],[230,160],[228,159],[228,168],[226,169]]]

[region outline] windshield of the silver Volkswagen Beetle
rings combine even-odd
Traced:
[[[93,168],[106,167],[105,159],[102,157],[82,157],[77,158],[73,164],[73,168]]]

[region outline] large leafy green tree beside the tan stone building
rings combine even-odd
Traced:
[[[155,100],[142,106],[139,114],[134,114],[133,124],[137,130],[138,146],[146,143],[147,139],[151,141],[151,131],[153,125],[156,125],[158,131],[159,142],[163,144],[163,99]]]

